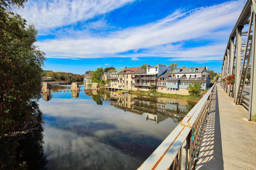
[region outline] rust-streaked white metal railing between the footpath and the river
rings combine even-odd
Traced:
[[[194,168],[215,87],[211,87],[138,169]]]

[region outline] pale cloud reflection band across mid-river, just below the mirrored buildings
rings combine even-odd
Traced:
[[[134,135],[145,134],[163,139],[176,127],[177,123],[171,118],[156,125],[153,121],[146,121],[144,115],[118,110],[108,104],[97,106],[92,99],[52,99],[48,103],[40,103],[40,108],[47,116],[63,118],[92,119],[93,122],[104,122],[116,125],[118,131],[133,131]],[[68,120],[67,120],[68,121]]]

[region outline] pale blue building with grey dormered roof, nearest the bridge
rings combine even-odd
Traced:
[[[172,94],[189,94],[188,86],[198,82],[202,90],[210,87],[211,76],[207,67],[180,67],[166,71],[158,77],[157,91]]]

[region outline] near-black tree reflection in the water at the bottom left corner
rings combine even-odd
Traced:
[[[44,169],[47,163],[42,147],[42,112],[36,103],[30,120],[33,125],[23,131],[4,134],[0,138],[0,169]]]

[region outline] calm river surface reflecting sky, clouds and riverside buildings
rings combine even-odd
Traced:
[[[40,99],[48,169],[136,169],[195,104],[83,87],[79,93],[68,86],[56,89],[61,92]]]

